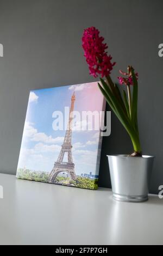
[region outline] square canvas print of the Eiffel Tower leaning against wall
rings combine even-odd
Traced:
[[[97,82],[32,90],[17,178],[97,189],[104,108]]]

